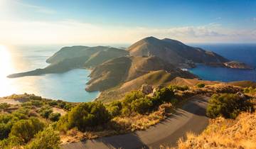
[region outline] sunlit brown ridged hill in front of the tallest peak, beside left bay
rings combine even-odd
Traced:
[[[170,78],[196,78],[190,72],[183,71],[161,60],[159,57],[118,57],[95,67],[90,74],[92,79],[87,83],[88,86],[86,89],[87,91],[103,91],[115,87],[122,82],[129,82],[157,70],[162,70],[164,73],[170,74]],[[149,81],[149,79],[144,79],[144,82]],[[161,75],[155,79],[161,79]],[[166,79],[166,81],[169,81],[169,79]],[[139,83],[134,82],[134,84]]]

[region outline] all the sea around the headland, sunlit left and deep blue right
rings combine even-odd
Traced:
[[[188,44],[256,67],[256,44]],[[115,46],[115,45],[112,45]],[[90,70],[76,69],[60,74],[19,77],[9,79],[11,73],[46,67],[46,59],[63,45],[0,45],[0,96],[11,94],[36,94],[49,99],[85,102],[95,99],[100,92],[86,92]],[[117,46],[115,46],[117,47]],[[127,47],[127,45],[118,45]],[[188,70],[201,79],[231,82],[250,80],[256,82],[255,70],[235,70],[221,67],[198,67]]]

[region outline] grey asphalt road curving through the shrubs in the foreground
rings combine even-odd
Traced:
[[[135,131],[119,136],[110,136],[69,143],[63,149],[105,149],[105,148],[159,148],[160,145],[176,146],[178,138],[185,137],[186,132],[201,133],[208,125],[206,104],[208,97],[196,96],[188,101],[173,116],[151,126],[146,131]]]

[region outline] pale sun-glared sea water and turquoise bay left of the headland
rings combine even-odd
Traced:
[[[6,75],[46,67],[46,59],[61,46],[0,46],[0,96],[36,94],[64,101],[92,101],[99,92],[86,92],[89,70],[71,70],[62,74],[9,79]]]

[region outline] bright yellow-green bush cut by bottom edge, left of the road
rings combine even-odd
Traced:
[[[26,145],[27,149],[57,149],[60,148],[58,132],[49,127],[36,134],[36,137]]]

